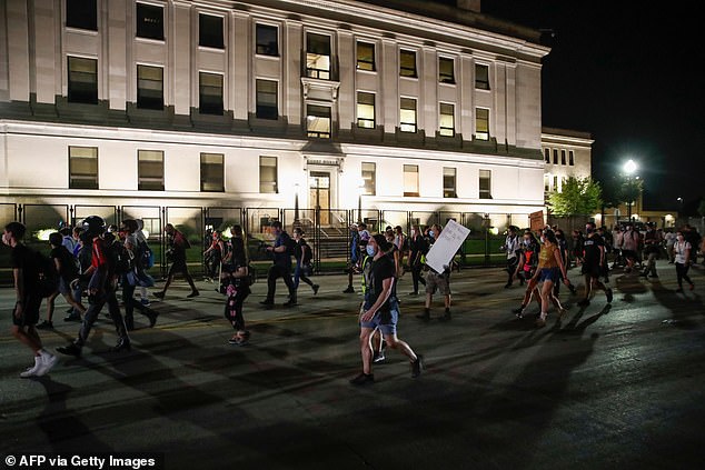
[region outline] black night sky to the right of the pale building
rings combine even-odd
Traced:
[[[440,1],[455,3],[454,1]],[[543,126],[589,132],[593,177],[639,164],[646,209],[694,211],[705,197],[705,80],[697,3],[483,0],[481,11],[536,29],[544,59]]]

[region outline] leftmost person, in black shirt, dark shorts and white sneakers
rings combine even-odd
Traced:
[[[47,352],[34,326],[39,321],[39,263],[37,253],[22,243],[27,229],[20,222],[10,222],[2,232],[2,242],[12,249],[10,262],[14,283],[12,336],[34,353],[34,364],[20,373],[22,378],[46,374],[57,363],[57,357]]]

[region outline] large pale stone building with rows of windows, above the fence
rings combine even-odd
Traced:
[[[0,0],[0,203],[522,224],[549,50],[461,3]]]

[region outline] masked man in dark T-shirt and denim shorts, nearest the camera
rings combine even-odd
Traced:
[[[399,304],[391,296],[395,281],[394,263],[386,256],[391,248],[385,236],[376,234],[367,243],[367,253],[373,257],[370,284],[360,309],[360,356],[363,371],[350,380],[354,386],[366,386],[375,382],[373,373],[373,348],[370,339],[375,329],[379,328],[388,349],[397,349],[409,359],[411,377],[419,377],[423,369],[423,357],[416,354],[408,343],[397,337]]]

